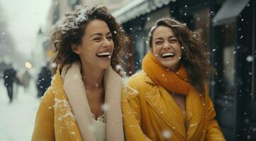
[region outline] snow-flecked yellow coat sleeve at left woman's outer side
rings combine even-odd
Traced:
[[[41,98],[32,141],[55,140],[54,131],[54,95],[50,88]]]

